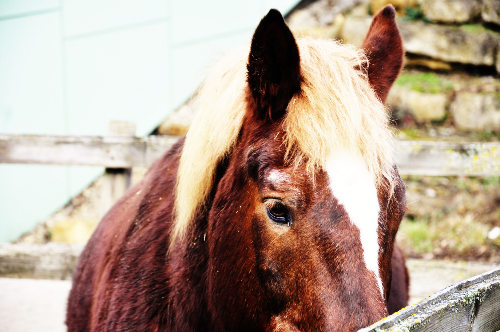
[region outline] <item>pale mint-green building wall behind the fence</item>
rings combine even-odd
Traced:
[[[0,0],[0,132],[149,133],[210,64],[297,0]],[[101,167],[0,164],[0,242],[62,206]]]

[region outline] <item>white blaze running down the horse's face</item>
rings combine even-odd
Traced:
[[[366,268],[373,271],[383,295],[378,268],[378,198],[373,175],[364,159],[347,151],[338,151],[326,162],[330,190],[342,204],[351,222],[359,229]]]

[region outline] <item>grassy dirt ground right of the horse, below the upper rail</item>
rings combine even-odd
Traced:
[[[406,257],[500,262],[500,178],[403,179],[408,210],[396,241]]]

